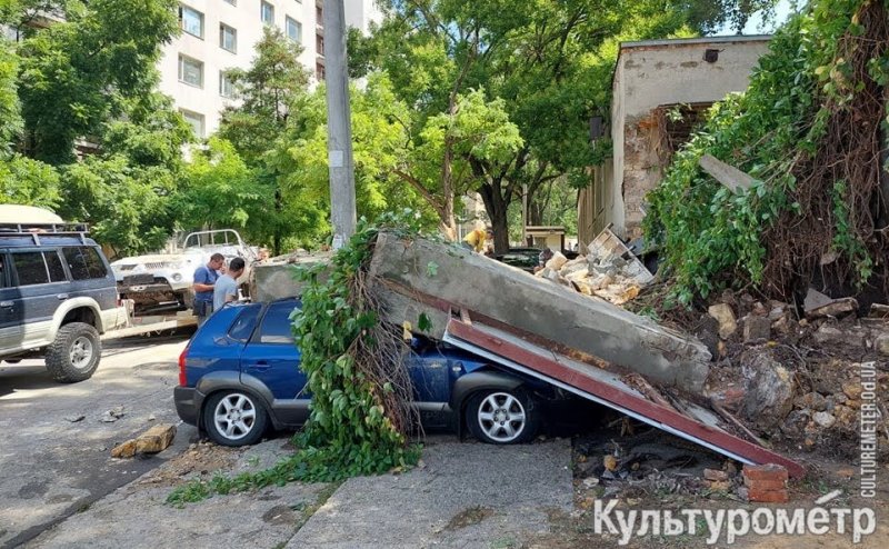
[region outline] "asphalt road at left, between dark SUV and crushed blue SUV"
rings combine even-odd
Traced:
[[[110,456],[153,425],[179,423],[172,390],[186,340],[107,341],[96,375],[74,385],[52,381],[42,361],[0,363],[0,547],[26,542],[188,447],[197,430],[179,425],[173,446],[154,457]],[[119,407],[122,417],[102,421]]]

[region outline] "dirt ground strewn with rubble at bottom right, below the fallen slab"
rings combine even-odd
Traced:
[[[870,507],[877,516],[877,530],[856,547],[885,549],[889,542],[889,485],[878,486],[877,497],[866,499],[859,495],[857,466],[848,460],[821,457],[818,451],[782,448],[788,457],[803,463],[808,475],[788,483],[790,501],[785,505],[751,503],[738,495],[741,477],[735,471],[740,465],[662,433],[647,426],[633,426],[633,432],[625,425],[611,430],[581,435],[573,439],[575,510],[571,513],[552,512],[550,533],[527,540],[525,548],[612,548],[619,536],[595,532],[593,509],[597,499],[603,505],[618,499],[616,509],[660,510],[671,509],[681,517],[681,509],[746,509],[759,507],[783,507],[786,509],[812,509],[816,500],[835,490],[841,495],[823,507]],[[618,453],[616,473],[607,472],[605,456]],[[880,463],[878,478],[889,479],[889,465]],[[703,479],[703,469],[728,470],[731,476],[728,489],[715,489]],[[878,481],[879,485],[879,481]],[[612,517],[612,519],[615,519]],[[615,519],[617,523],[617,520]],[[831,522],[836,527],[836,521]],[[708,545],[710,533],[703,520],[699,520],[696,535],[633,537],[626,547],[651,548],[703,548],[726,547],[726,529],[715,545]],[[825,536],[758,536],[750,533],[737,538],[732,547],[750,549],[783,549],[799,547],[848,548],[852,547],[849,530],[846,535]]]

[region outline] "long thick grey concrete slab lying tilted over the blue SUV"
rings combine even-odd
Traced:
[[[410,301],[387,311],[394,323],[420,309],[440,322],[448,302],[692,393],[709,371],[710,353],[690,336],[453,246],[381,233],[370,272]]]

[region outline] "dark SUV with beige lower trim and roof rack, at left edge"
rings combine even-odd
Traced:
[[[86,226],[0,222],[0,359],[43,357],[56,380],[82,381],[99,366],[99,335],[126,319]]]

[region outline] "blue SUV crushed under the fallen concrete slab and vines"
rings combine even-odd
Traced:
[[[179,357],[173,400],[182,421],[224,446],[254,443],[268,427],[301,426],[311,396],[290,329],[297,307],[299,300],[284,299],[216,311]],[[561,398],[547,383],[421,338],[411,345],[407,368],[426,428],[468,426],[495,445],[533,438],[541,405]]]

